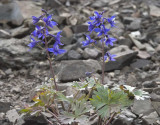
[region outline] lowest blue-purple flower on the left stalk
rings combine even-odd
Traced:
[[[52,52],[54,55],[65,53],[66,50],[59,49],[58,45],[53,45],[53,48],[48,48],[49,52]]]

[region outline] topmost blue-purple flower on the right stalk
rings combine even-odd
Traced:
[[[95,26],[99,26],[101,24],[102,15],[97,11],[94,12],[94,16],[90,17],[90,20],[93,20],[92,24]]]

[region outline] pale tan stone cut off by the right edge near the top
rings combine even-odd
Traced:
[[[150,5],[150,15],[155,17],[160,17],[160,8],[156,7],[155,5]]]

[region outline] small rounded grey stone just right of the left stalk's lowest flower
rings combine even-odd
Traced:
[[[68,59],[70,59],[70,60],[78,60],[78,59],[80,59],[82,56],[81,56],[81,54],[79,54],[77,51],[75,51],[75,50],[70,50],[69,52],[68,52]]]

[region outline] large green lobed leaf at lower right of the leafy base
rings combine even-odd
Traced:
[[[118,112],[117,109],[120,110],[131,104],[127,94],[122,90],[113,91],[102,86],[93,93],[92,99],[90,99],[91,104],[102,118],[109,117],[110,113]]]

